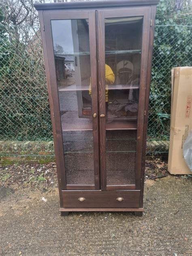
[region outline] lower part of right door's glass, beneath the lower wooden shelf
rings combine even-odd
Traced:
[[[135,159],[136,130],[107,130],[107,186],[135,184]]]

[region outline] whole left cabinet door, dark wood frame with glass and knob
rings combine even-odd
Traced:
[[[60,113],[54,121],[62,135],[57,143],[64,159],[63,189],[99,189],[95,12],[49,15],[51,38],[46,40],[53,49],[48,54],[55,69],[51,90],[56,90],[58,103],[53,100]]]

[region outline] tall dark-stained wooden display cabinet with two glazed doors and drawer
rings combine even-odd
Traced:
[[[143,212],[158,0],[35,4],[60,211]]]

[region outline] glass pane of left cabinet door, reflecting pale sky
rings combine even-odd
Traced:
[[[51,20],[66,184],[94,186],[88,19]]]

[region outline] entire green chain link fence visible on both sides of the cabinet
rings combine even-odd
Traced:
[[[19,33],[17,27],[16,32]],[[23,28],[22,28],[23,31]],[[11,37],[0,27],[0,140],[51,141],[51,118],[39,28]],[[14,33],[13,33],[14,32]],[[148,141],[169,141],[171,68],[192,65],[192,26],[156,25],[149,101]],[[148,149],[150,151],[150,149]],[[154,150],[153,150],[154,151]],[[163,147],[154,153],[165,152]],[[167,150],[166,150],[167,151]]]

